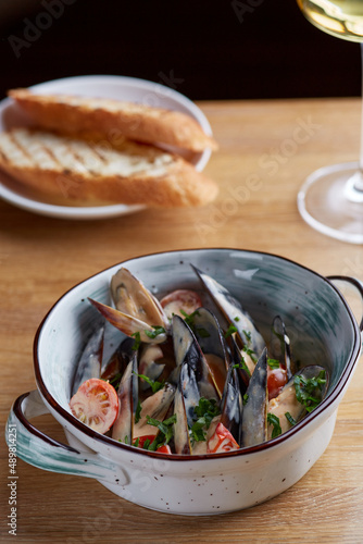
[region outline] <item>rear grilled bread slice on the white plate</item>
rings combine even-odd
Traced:
[[[215,140],[185,113],[107,98],[9,91],[35,124],[65,134],[97,131],[120,133],[147,144],[167,144],[190,151],[216,149]]]

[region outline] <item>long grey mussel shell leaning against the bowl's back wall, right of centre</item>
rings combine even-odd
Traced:
[[[240,343],[252,349],[256,358],[259,358],[265,347],[265,342],[239,300],[213,277],[195,265],[191,264],[191,267],[228,324],[236,327],[236,334]]]

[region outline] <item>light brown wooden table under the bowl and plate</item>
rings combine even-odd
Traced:
[[[323,274],[363,280],[363,250],[313,231],[296,198],[314,169],[356,160],[355,99],[204,102],[221,148],[205,172],[221,193],[198,210],[146,210],[101,221],[32,215],[0,202],[1,428],[35,388],[32,346],[50,306],[85,277],[124,259],[170,249],[236,247],[278,254]],[[236,514],[190,518],[149,511],[98,482],[17,460],[16,542],[363,542],[363,367],[339,407],[331,443],[292,489]],[[42,417],[39,428],[64,440]],[[8,535],[8,448],[1,437],[1,542]]]

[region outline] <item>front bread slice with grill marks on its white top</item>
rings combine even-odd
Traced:
[[[47,195],[150,207],[201,206],[216,184],[178,156],[123,140],[117,149],[57,134],[14,128],[0,134],[0,169]]]

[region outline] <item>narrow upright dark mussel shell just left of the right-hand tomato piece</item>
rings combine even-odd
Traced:
[[[267,349],[258,360],[245,395],[241,445],[254,446],[266,441],[267,435]]]

